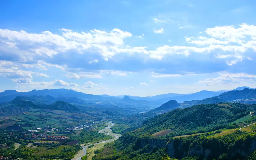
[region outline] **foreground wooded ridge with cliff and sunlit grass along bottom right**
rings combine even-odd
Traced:
[[[162,160],[166,155],[166,160],[255,160],[255,149],[256,134],[238,129],[224,136],[209,133],[171,139],[126,134],[96,151],[92,159]]]

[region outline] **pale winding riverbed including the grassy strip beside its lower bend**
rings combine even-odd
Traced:
[[[122,136],[121,134],[112,133],[111,127],[113,127],[115,125],[115,123],[112,123],[110,121],[106,124],[108,126],[105,129],[100,130],[98,133],[107,134],[107,135],[112,136],[113,138],[110,139],[110,140],[105,140],[105,141],[99,141],[99,142],[96,142],[96,143],[92,143],[92,144],[94,144],[94,146],[91,147],[91,148],[88,148],[88,146],[90,146],[92,144],[89,144],[89,145],[81,144],[83,149],[80,150],[78,152],[78,154],[76,154],[72,160],[80,160],[82,156],[86,155],[86,153],[87,153],[86,150],[88,150],[87,158],[88,158],[88,160],[91,160],[92,157],[95,155],[94,151],[97,150],[97,149],[102,148],[104,146],[104,143],[113,142],[114,140],[117,140],[119,137]]]

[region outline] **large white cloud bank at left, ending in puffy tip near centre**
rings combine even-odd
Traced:
[[[12,46],[12,50],[8,49],[8,52],[18,54],[20,58],[28,61],[30,58],[33,59],[35,55],[52,57],[60,52],[70,50],[75,50],[78,53],[98,52],[107,58],[114,55],[108,49],[109,46],[121,46],[124,43],[124,38],[132,36],[130,32],[124,32],[117,28],[109,33],[96,29],[91,30],[89,33],[72,32],[72,30],[67,29],[61,30],[63,31],[62,36],[52,34],[49,31],[43,31],[41,34],[32,34],[22,30],[0,29],[0,40],[7,39],[8,43],[16,43],[17,45]],[[7,45],[11,47],[9,44]],[[29,47],[24,49],[21,46]],[[3,49],[7,51],[6,47],[3,47]]]

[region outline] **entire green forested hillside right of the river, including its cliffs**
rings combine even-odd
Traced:
[[[253,159],[256,134],[252,131],[256,125],[249,130],[239,130],[240,126],[234,121],[255,110],[256,105],[241,103],[174,109],[145,121],[139,129],[125,133],[114,143],[95,152],[97,155],[93,159],[161,160],[165,153],[167,159],[168,156],[183,160]],[[252,116],[244,124],[254,123],[254,120]],[[153,135],[166,130],[171,132],[157,137]]]

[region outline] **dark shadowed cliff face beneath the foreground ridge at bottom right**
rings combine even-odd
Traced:
[[[129,136],[128,136],[129,137]],[[210,142],[195,145],[193,141],[195,139],[154,139],[154,138],[143,138],[143,137],[126,137],[125,141],[126,143],[133,143],[134,147],[132,149],[138,150],[143,147],[147,147],[149,150],[152,150],[155,146],[157,148],[166,148],[167,154],[170,157],[175,158],[184,158],[186,156],[199,156],[202,157],[202,159],[213,159],[218,158],[217,155],[224,153],[227,153],[229,158],[230,157],[246,157],[250,155],[253,151],[256,149],[256,140],[247,140],[247,142],[241,142],[241,143],[231,143],[229,146],[227,146],[227,149],[221,150],[220,148],[216,147],[215,144],[219,145],[218,143],[215,143],[216,140],[210,140]],[[124,137],[121,137],[122,139]],[[248,147],[244,147],[248,146]]]

